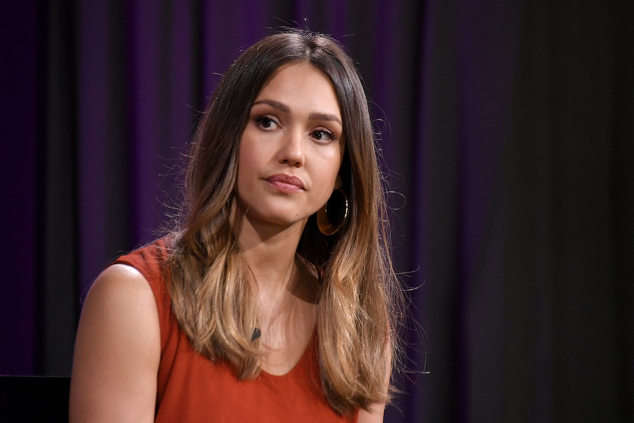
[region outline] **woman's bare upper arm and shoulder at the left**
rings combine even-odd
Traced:
[[[152,422],[160,359],[159,315],[138,270],[114,264],[82,309],[70,381],[70,422]]]

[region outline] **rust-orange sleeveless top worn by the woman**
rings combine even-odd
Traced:
[[[228,361],[210,361],[191,347],[181,330],[162,263],[165,241],[121,256],[113,263],[136,268],[150,284],[159,311],[160,363],[156,422],[356,422],[358,413],[342,416],[330,408],[321,386],[317,336],[290,372],[262,371],[238,381]]]

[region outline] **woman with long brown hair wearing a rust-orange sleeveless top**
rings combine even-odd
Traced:
[[[262,39],[198,127],[171,235],[94,282],[74,421],[382,420],[399,290],[365,93],[329,37]]]

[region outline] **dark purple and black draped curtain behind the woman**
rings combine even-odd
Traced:
[[[299,25],[358,62],[396,192],[416,323],[386,421],[634,419],[633,22],[629,1],[3,5],[0,374],[70,374],[80,298],[165,223],[219,74]]]

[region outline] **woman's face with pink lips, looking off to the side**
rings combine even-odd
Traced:
[[[320,209],[341,166],[342,129],[328,77],[307,63],[278,68],[240,141],[236,198],[247,219],[287,226]]]

